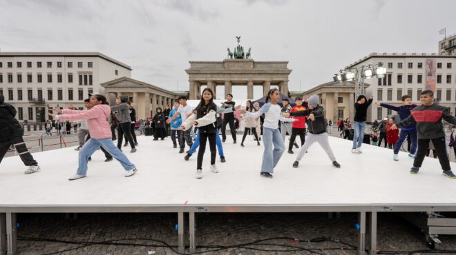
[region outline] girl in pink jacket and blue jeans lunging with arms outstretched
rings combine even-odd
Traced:
[[[111,108],[107,105],[106,97],[101,94],[93,94],[91,96],[92,108],[86,111],[79,110],[57,110],[60,115],[49,114],[56,120],[80,120],[86,119],[88,132],[91,134],[89,139],[79,151],[79,167],[75,175],[68,180],[73,181],[86,177],[88,158],[98,147],[103,146],[114,159],[120,162],[126,170],[125,176],[129,177],[137,171],[135,165],[126,158],[126,156],[114,145],[111,139],[111,127],[107,121],[107,117],[111,114]]]

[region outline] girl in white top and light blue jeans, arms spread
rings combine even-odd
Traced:
[[[260,176],[265,178],[273,177],[274,167],[276,167],[285,151],[285,144],[283,143],[281,132],[278,130],[278,121],[295,121],[295,119],[287,119],[282,116],[282,108],[277,104],[280,97],[278,89],[272,88],[267,92],[265,105],[258,112],[240,111],[241,114],[247,114],[247,116],[254,119],[265,114],[265,122],[263,123],[263,145],[265,150],[260,172]],[[269,100],[271,103],[268,103]]]

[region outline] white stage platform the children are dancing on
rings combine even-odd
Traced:
[[[406,153],[393,161],[392,150],[363,144],[363,154],[352,154],[352,141],[330,137],[340,169],[314,144],[297,169],[292,163],[299,149],[285,151],[274,178],[265,179],[263,145],[247,136],[240,147],[240,139],[233,144],[229,136],[223,144],[227,162],[217,155],[218,174],[209,170],[208,145],[199,180],[197,153],[184,161],[169,138],[138,136],[133,154],[123,147],[138,168],[129,178],[117,161],[105,163],[101,151],[92,156],[88,176],[77,181],[68,181],[77,170],[74,147],[34,153],[41,166],[35,174],[23,174],[19,156],[8,157],[0,165],[0,213],[9,217],[8,226],[21,212],[178,212],[182,223],[184,212],[191,213],[190,221],[195,212],[361,212],[363,223],[365,212],[376,217],[377,212],[456,211],[456,180],[441,174],[437,159],[426,158],[412,175],[413,160]],[[190,234],[194,248],[194,230]]]

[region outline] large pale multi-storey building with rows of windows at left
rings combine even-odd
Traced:
[[[122,76],[131,67],[99,52],[0,52],[0,94],[20,122],[44,122],[57,105],[83,108],[88,93]]]

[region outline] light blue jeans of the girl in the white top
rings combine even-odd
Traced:
[[[280,130],[263,127],[263,145],[265,146],[265,152],[263,152],[261,172],[272,173],[278,160],[281,159],[283,152],[285,152],[285,144]],[[274,150],[272,150],[272,145],[274,145]]]

